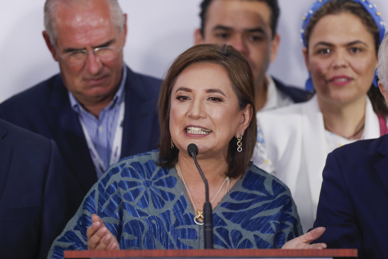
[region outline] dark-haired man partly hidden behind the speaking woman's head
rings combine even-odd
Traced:
[[[276,33],[279,12],[277,0],[203,0],[201,3],[201,28],[195,32],[195,43],[226,43],[248,59],[256,110],[282,107],[311,97],[311,93],[284,86],[266,74],[280,42]]]

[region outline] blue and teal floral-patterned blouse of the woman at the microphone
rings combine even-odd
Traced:
[[[97,214],[116,236],[120,249],[202,249],[203,226],[175,167],[156,165],[158,152],[123,159],[90,189],[74,217],[50,249],[87,250],[86,230]],[[254,165],[213,210],[214,247],[280,248],[302,234],[289,189]]]

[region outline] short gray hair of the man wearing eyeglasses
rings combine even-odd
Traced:
[[[47,35],[49,35],[50,43],[53,46],[57,46],[57,24],[55,19],[55,11],[57,10],[58,3],[78,2],[86,3],[90,0],[46,0],[44,7],[44,23]],[[120,29],[122,33],[124,31],[124,14],[120,8],[117,0],[107,0],[111,9],[112,22]]]

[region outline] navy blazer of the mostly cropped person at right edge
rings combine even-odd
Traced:
[[[327,248],[357,248],[359,258],[388,258],[388,135],[334,150],[323,171],[314,228]]]

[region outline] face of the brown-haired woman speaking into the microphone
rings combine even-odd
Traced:
[[[229,141],[244,135],[251,116],[250,105],[238,109],[229,76],[220,65],[194,63],[180,73],[172,88],[170,133],[184,154],[194,143],[199,155],[226,158]]]

